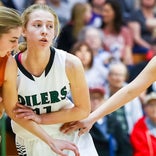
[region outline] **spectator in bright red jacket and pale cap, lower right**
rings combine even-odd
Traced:
[[[156,155],[156,92],[147,94],[143,108],[145,116],[134,126],[131,134],[133,156]]]

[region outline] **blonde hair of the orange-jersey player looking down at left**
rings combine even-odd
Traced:
[[[22,26],[20,14],[14,9],[0,6],[0,37],[9,33],[10,29]]]

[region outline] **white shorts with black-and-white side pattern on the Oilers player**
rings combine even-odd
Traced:
[[[80,156],[98,156],[93,140],[89,133],[83,134],[79,140],[74,141]],[[58,156],[49,146],[40,139],[26,140],[16,136],[16,148],[19,156]],[[75,156],[72,151],[64,151],[68,156]]]

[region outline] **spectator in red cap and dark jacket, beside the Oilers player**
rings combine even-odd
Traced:
[[[91,111],[94,111],[105,101],[105,90],[102,87],[89,89]],[[125,156],[129,151],[129,142],[125,139],[120,122],[113,115],[99,119],[91,128],[95,147],[99,156]]]

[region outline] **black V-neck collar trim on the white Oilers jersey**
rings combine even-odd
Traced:
[[[48,62],[48,64],[47,64],[46,68],[45,68],[45,76],[47,76],[47,74],[49,73],[49,71],[50,71],[50,69],[51,69],[51,67],[52,67],[52,65],[53,65],[53,62],[54,62],[55,49],[51,47],[51,48],[50,48],[50,51],[51,51],[51,53],[50,53],[49,62]],[[20,52],[20,53],[21,53],[21,52]],[[22,72],[25,76],[27,76],[29,79],[35,81],[35,79],[33,78],[32,74],[30,74],[30,73],[23,67],[23,65],[19,62],[18,56],[19,56],[20,53],[18,53],[17,55],[15,55],[15,60],[16,60],[16,62],[17,62],[18,68],[21,70],[21,72]]]

